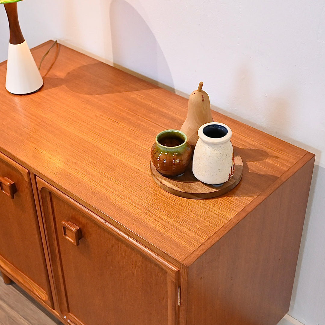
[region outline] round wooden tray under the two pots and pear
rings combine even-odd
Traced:
[[[161,175],[150,161],[153,180],[165,191],[188,199],[209,199],[223,195],[233,189],[240,181],[243,172],[243,162],[235,154],[234,175],[220,187],[200,182],[192,172],[192,163],[188,165],[182,176],[166,177]]]

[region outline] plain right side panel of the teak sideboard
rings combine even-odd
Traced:
[[[275,325],[289,310],[313,163],[189,266],[187,325]]]

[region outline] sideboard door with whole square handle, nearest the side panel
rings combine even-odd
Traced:
[[[59,314],[71,324],[178,324],[179,270],[37,179]]]

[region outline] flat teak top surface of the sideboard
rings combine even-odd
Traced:
[[[37,64],[51,43],[32,50]],[[236,224],[240,211],[249,212],[308,154],[213,112],[232,129],[242,180],[222,197],[177,197],[152,180],[150,148],[158,132],[180,128],[187,98],[63,45],[50,51],[41,74],[39,92],[15,96],[5,89],[6,62],[0,64],[0,150],[174,261]]]

